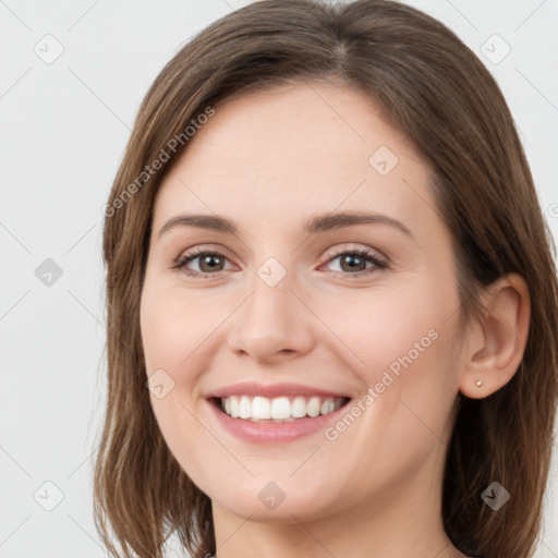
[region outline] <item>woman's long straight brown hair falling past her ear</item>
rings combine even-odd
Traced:
[[[187,148],[192,120],[233,95],[293,81],[364,92],[433,166],[464,318],[481,315],[480,289],[497,278],[518,272],[527,282],[530,333],[515,375],[487,399],[459,396],[442,517],[462,551],[529,557],[558,390],[556,248],[495,80],[446,26],[389,0],[248,4],[189,41],[143,100],[105,211],[108,405],[95,463],[97,530],[114,557],[122,555],[109,530],[124,555],[161,558],[172,533],[196,557],[216,550],[210,500],[167,448],[146,388],[140,298],[154,199]],[[145,173],[157,159],[165,161],[158,171]],[[511,494],[498,512],[481,498],[493,481]]]

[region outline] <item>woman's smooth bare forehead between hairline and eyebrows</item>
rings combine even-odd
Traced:
[[[157,222],[180,210],[287,221],[337,208],[412,222],[434,206],[428,166],[362,93],[295,84],[215,110],[163,180]]]

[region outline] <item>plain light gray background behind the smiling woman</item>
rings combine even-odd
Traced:
[[[106,556],[90,495],[106,401],[101,206],[157,73],[244,3],[0,0],[0,558]],[[556,238],[558,2],[409,3],[449,25],[498,80]],[[56,53],[47,34],[63,47],[50,64],[34,51]],[[494,34],[511,48],[499,63]],[[62,270],[50,286],[35,274],[47,258]],[[51,511],[46,482],[63,495]],[[557,484],[555,454],[537,558],[558,557]]]

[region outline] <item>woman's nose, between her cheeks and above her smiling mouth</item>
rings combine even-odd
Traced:
[[[229,347],[258,363],[278,363],[307,353],[314,344],[313,316],[293,293],[289,272],[274,287],[255,276],[252,293],[231,317]]]

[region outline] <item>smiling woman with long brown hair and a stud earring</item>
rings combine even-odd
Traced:
[[[197,35],[106,207],[98,529],[162,556],[533,553],[554,244],[494,78],[396,2]]]

